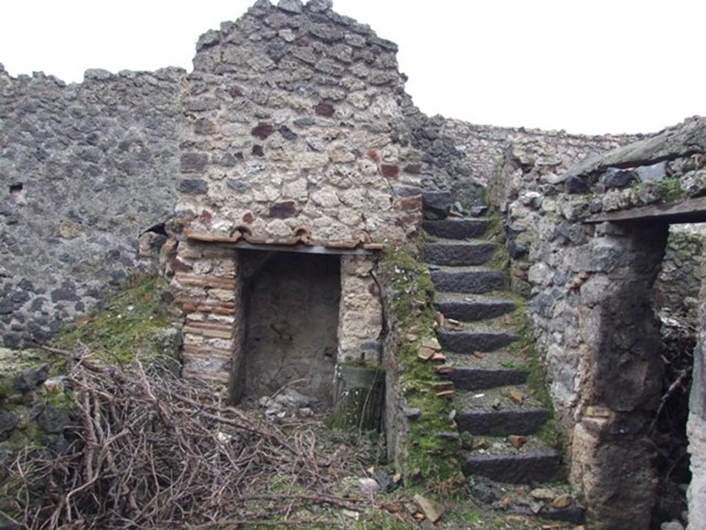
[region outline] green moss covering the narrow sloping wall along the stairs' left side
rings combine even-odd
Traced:
[[[395,290],[393,312],[400,337],[396,359],[398,369],[401,368],[400,387],[407,406],[421,411],[421,416],[410,425],[408,454],[402,470],[408,483],[414,483],[417,478],[428,482],[445,481],[460,470],[459,442],[438,436],[452,428],[449,415],[453,405],[436,395],[434,384],[441,381],[436,365],[417,357],[424,338],[436,336],[433,283],[429,270],[417,255],[414,247],[397,245],[388,248],[381,261]],[[409,336],[416,339],[409,341]]]

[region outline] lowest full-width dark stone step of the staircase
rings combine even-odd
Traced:
[[[524,454],[472,454],[465,457],[464,473],[515,484],[549,482],[561,474],[561,457],[554,449]]]

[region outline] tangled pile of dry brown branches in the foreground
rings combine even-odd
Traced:
[[[80,355],[66,384],[76,397],[71,448],[28,449],[10,469],[20,527],[296,526],[302,508],[316,514],[364,502],[332,494],[345,463],[323,456],[306,425],[285,433],[140,363],[118,370]],[[287,487],[273,493],[278,475]]]

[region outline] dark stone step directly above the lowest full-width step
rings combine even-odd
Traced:
[[[531,435],[546,422],[545,408],[514,408],[488,411],[484,408],[466,409],[456,415],[461,432],[472,435],[508,436]]]

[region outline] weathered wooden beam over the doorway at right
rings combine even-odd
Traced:
[[[584,223],[634,223],[640,221],[658,221],[671,224],[704,223],[706,222],[706,197],[597,213],[585,219]]]

